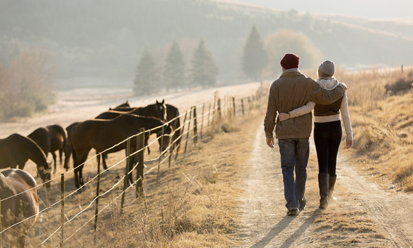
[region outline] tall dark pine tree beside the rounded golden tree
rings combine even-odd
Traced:
[[[261,71],[268,63],[268,56],[264,50],[264,42],[261,41],[261,35],[255,25],[252,26],[247,44],[244,47],[242,62],[242,69],[249,78],[261,79]]]

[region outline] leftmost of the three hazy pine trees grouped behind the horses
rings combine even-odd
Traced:
[[[149,48],[146,46],[136,68],[133,91],[136,95],[148,95],[158,86],[156,64]]]

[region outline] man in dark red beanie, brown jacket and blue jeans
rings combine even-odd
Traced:
[[[309,101],[330,104],[344,95],[343,87],[328,91],[316,81],[306,77],[298,69],[299,59],[295,54],[286,54],[281,60],[283,73],[269,89],[267,115],[264,120],[267,145],[274,147],[272,132],[278,113],[288,113]],[[281,122],[277,118],[275,135],[281,154],[281,168],[284,181],[284,197],[287,201],[287,215],[294,215],[306,207],[304,196],[309,160],[309,138],[312,127],[311,112]],[[295,169],[295,181],[294,181]]]

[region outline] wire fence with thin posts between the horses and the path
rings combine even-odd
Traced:
[[[3,228],[0,224],[0,246],[3,247],[4,245],[1,240],[2,235],[5,232],[12,228],[18,228],[20,224],[32,218],[37,218],[37,224],[40,224],[35,225],[35,227],[33,227],[34,231],[30,232],[28,235],[30,238],[36,240],[36,246],[64,247],[70,239],[73,239],[76,235],[80,234],[81,230],[82,235],[85,233],[89,235],[91,232],[94,232],[94,244],[97,245],[98,221],[103,210],[107,209],[111,205],[119,204],[118,201],[119,198],[121,198],[120,215],[122,215],[124,207],[127,206],[125,204],[125,199],[144,199],[145,192],[143,189],[143,183],[145,182],[145,175],[157,169],[156,182],[158,183],[159,180],[161,180],[161,165],[166,165],[167,163],[168,167],[171,167],[172,162],[177,160],[179,154],[186,153],[188,149],[188,141],[190,141],[192,146],[194,146],[197,142],[205,138],[206,130],[208,130],[208,128],[210,128],[213,124],[216,124],[225,118],[231,119],[235,116],[241,116],[248,113],[248,111],[253,108],[253,105],[257,103],[261,97],[261,92],[262,86],[251,97],[236,98],[226,95],[221,99],[217,94],[215,94],[213,102],[192,106],[190,109],[163,124],[163,126],[170,125],[173,127],[173,131],[170,134],[165,134],[165,128],[162,126],[162,135],[157,137],[151,143],[145,145],[145,133],[152,133],[153,130],[159,127],[151,130],[141,129],[138,134],[128,137],[124,141],[107,148],[95,156],[92,156],[76,168],[72,168],[65,173],[62,173],[60,176],[55,177],[48,182],[44,182],[43,184],[39,184],[34,188],[1,199],[0,207],[3,206],[5,201],[12,201],[13,198],[17,199],[16,197],[24,192],[36,189],[39,193],[41,189],[44,190],[44,196],[42,197],[43,199],[39,197],[41,210],[38,214],[28,216],[9,227]],[[182,119],[184,121],[180,122],[179,126],[177,126],[177,120]],[[158,156],[150,159],[144,159],[145,149],[152,147],[156,143],[161,143],[161,147],[163,145],[162,138],[165,136],[169,137],[169,143],[165,144],[167,145],[166,148],[161,151]],[[130,143],[132,138],[135,137],[137,138],[137,149],[131,151]],[[124,144],[125,142],[127,143],[125,157],[113,165],[108,166],[107,169],[100,171],[100,157],[102,154],[118,145]],[[67,175],[69,173],[73,173],[75,169],[79,168],[79,166],[83,166],[91,160],[96,159],[98,161],[97,174],[84,183],[83,186],[71,192],[65,192],[65,178],[68,178]],[[133,161],[132,168],[129,168],[128,166],[130,160]],[[123,162],[126,162],[126,166],[124,168],[121,167]],[[147,167],[147,165],[150,165],[150,167]],[[144,168],[147,168],[145,173]],[[136,174],[136,179],[128,185],[127,178],[131,178],[133,173]],[[106,188],[100,187],[102,180],[104,181],[103,186]],[[52,183],[51,190],[44,187],[45,184],[49,182]],[[84,196],[82,190],[86,186],[93,186],[93,184],[96,186],[96,195]],[[131,188],[133,187],[136,187],[136,189],[131,191]],[[90,198],[90,200],[85,200],[84,198]],[[99,200],[101,198],[103,198],[104,201],[100,203]],[[133,200],[131,202],[133,202]],[[84,203],[85,201],[87,203],[85,206],[82,206],[81,203]],[[93,207],[94,204],[95,207]],[[130,204],[131,203],[129,202],[129,205]],[[93,228],[91,228],[90,225],[93,220],[94,225]]]

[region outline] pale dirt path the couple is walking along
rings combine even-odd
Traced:
[[[288,247],[395,247],[413,246],[412,194],[386,191],[372,184],[366,176],[356,171],[341,152],[338,157],[336,190],[339,202],[328,210],[318,209],[316,177],[310,176],[307,184],[307,208],[296,216],[287,216],[278,145],[266,145],[262,123],[257,124],[255,147],[251,152],[248,176],[244,179],[245,197],[241,198],[241,225],[237,230],[244,248]],[[314,145],[311,144],[311,153]],[[315,168],[311,168],[315,169]],[[310,170],[310,168],[309,168]],[[347,192],[347,193],[346,193]],[[366,213],[372,221],[374,232],[361,239],[360,233],[346,228],[332,228],[323,232],[319,219],[335,212]],[[346,218],[346,217],[345,217]],[[350,218],[350,217],[348,217]],[[352,220],[352,219],[351,219]],[[363,234],[361,234],[363,235]],[[337,235],[335,236],[337,237]],[[346,243],[344,240],[353,240]],[[361,240],[361,241],[360,241]],[[337,241],[337,242],[336,242]],[[366,242],[368,242],[366,244]],[[334,244],[334,245],[333,245]]]

